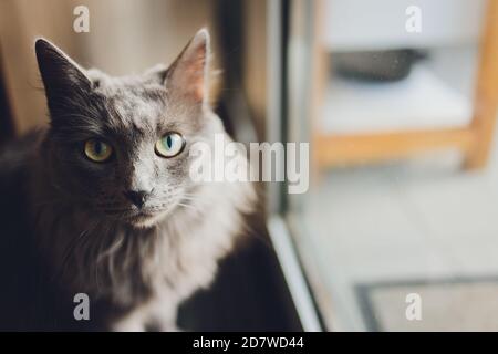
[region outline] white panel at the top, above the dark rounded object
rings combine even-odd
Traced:
[[[330,50],[427,48],[478,39],[484,0],[324,0]],[[422,11],[422,32],[408,33],[406,8]]]

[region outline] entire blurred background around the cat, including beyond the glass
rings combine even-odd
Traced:
[[[48,122],[37,35],[122,75],[204,25],[227,129],[310,143],[312,183],[262,186],[255,242],[185,326],[498,330],[497,0],[3,0],[0,144]]]

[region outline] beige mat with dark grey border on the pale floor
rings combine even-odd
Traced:
[[[359,284],[367,331],[498,331],[498,277]]]

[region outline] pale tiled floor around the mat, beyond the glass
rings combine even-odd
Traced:
[[[456,154],[442,153],[335,169],[310,190],[298,244],[304,263],[318,269],[319,301],[329,302],[324,314],[334,329],[365,329],[359,283],[498,279],[495,145],[481,171],[461,170]]]

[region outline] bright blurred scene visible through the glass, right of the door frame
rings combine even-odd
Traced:
[[[498,330],[497,1],[291,6],[314,183],[286,210],[325,326]]]

